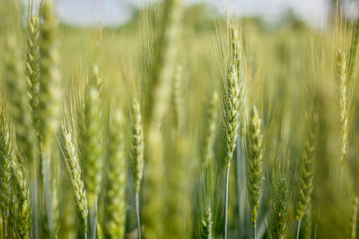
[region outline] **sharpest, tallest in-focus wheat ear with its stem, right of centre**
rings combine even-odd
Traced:
[[[226,81],[222,82],[222,115],[223,115],[223,146],[224,162],[226,166],[225,176],[225,207],[224,207],[224,239],[227,238],[228,217],[228,182],[233,152],[236,146],[240,115],[243,112],[242,87],[238,81],[237,69],[230,65]]]

